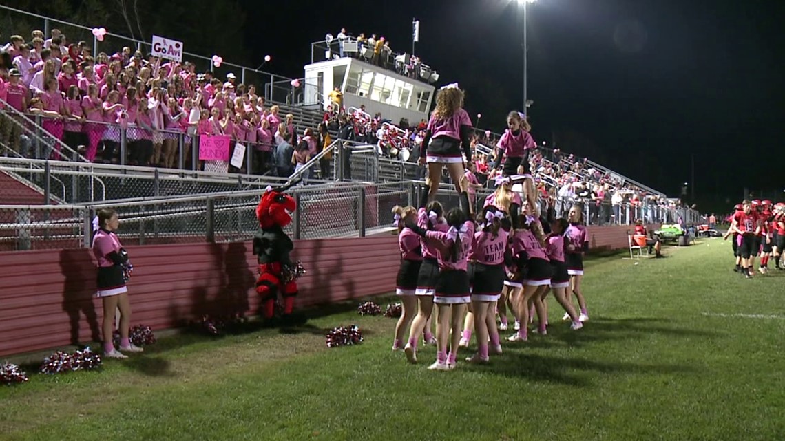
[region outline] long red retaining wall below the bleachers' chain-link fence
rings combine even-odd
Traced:
[[[594,248],[627,246],[628,227],[590,228]],[[132,325],[183,326],[203,314],[253,314],[256,258],[250,242],[129,246]],[[306,274],[298,307],[389,293],[396,235],[295,242]],[[87,249],[0,253],[0,356],[97,340],[100,300]]]

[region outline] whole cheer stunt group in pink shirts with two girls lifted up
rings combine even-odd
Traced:
[[[458,348],[468,346],[473,332],[477,352],[467,362],[487,363],[489,355],[502,353],[499,331],[507,330],[508,306],[516,318],[516,332],[507,341],[527,341],[535,313],[539,323],[534,332],[546,334],[545,299],[550,291],[572,330],[581,329],[589,319],[581,290],[583,253],[589,245],[581,207],[573,206],[568,219],[541,221],[528,163],[535,142],[525,115],[513,111],[497,146],[498,161],[503,157],[503,163],[497,162],[502,176],[482,210],[473,213],[463,166],[465,158],[471,159],[472,125],[462,105],[457,84],[436,94],[419,159],[428,165],[429,189],[422,191],[418,207],[393,208],[401,257],[396,294],[403,308],[392,350],[403,350],[410,363],[417,363],[418,341],[424,334],[425,344],[436,344],[436,362],[430,370],[455,368]],[[445,166],[460,195],[460,206],[450,210],[433,200]],[[522,191],[513,191],[519,187]],[[435,339],[429,332],[434,305]]]

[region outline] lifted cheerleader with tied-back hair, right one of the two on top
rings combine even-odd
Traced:
[[[531,213],[537,213],[537,194],[535,191],[534,179],[531,177],[531,169],[529,165],[529,151],[537,148],[535,140],[529,133],[531,126],[526,121],[526,115],[518,111],[511,111],[507,115],[507,129],[502,137],[499,138],[496,144],[496,162],[495,169],[502,167],[502,174],[504,176],[513,176],[515,174],[524,177],[523,190],[528,202]],[[502,159],[504,163],[502,165]]]

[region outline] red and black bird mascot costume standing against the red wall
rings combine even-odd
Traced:
[[[305,271],[300,261],[293,263],[289,253],[294,250],[294,242],[283,228],[292,221],[292,213],[297,210],[294,198],[284,193],[298,181],[283,187],[268,187],[256,207],[259,231],[254,235],[254,254],[259,264],[259,279],[256,292],[261,297],[261,307],[265,319],[270,320],[276,313],[276,300],[280,293],[283,297],[284,322],[292,321],[294,297],[297,296],[296,280]]]

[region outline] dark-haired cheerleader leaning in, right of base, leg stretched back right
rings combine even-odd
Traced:
[[[571,319],[570,329],[579,330],[583,327],[583,323],[579,320],[575,308],[573,308],[571,301],[567,297],[567,289],[570,287],[570,275],[568,274],[567,264],[564,263],[564,251],[567,249],[569,241],[564,238],[564,231],[567,231],[568,225],[564,218],[555,219],[551,222],[551,232],[546,236],[545,251],[550,259],[550,266],[553,272],[550,278],[550,289],[553,290],[553,296],[556,297],[556,301],[559,302],[561,307],[564,308],[564,312],[567,312]],[[543,304],[547,295],[548,291],[542,295]]]

